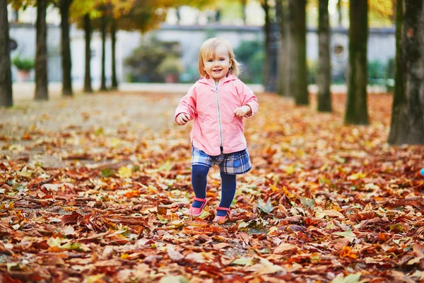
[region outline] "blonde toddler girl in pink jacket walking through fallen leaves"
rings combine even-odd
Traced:
[[[237,79],[240,64],[227,40],[211,38],[199,50],[201,79],[189,88],[175,110],[175,122],[194,119],[192,133],[192,185],[194,202],[189,209],[199,216],[206,206],[206,176],[209,168],[220,168],[221,200],[214,222],[230,216],[235,195],[235,175],[252,168],[243,129],[243,117],[258,110],[257,97]]]

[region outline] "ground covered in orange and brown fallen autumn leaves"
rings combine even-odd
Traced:
[[[190,221],[182,95],[109,93],[0,110],[0,281],[420,282],[422,146],[389,146],[391,96],[367,127],[260,93],[253,170],[232,219]]]

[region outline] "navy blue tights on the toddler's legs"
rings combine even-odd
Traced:
[[[194,165],[192,166],[192,185],[194,190],[194,195],[201,199],[206,198],[206,177],[208,176],[209,168],[207,166],[202,165]],[[221,201],[220,207],[230,208],[232,199],[235,195],[235,175],[225,174],[223,172],[220,173],[222,185],[221,185]],[[194,201],[193,207],[201,207],[203,202]],[[227,212],[223,210],[218,210],[216,215],[225,216]]]

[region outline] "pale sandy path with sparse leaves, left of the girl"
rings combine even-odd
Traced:
[[[43,166],[66,165],[59,156],[37,146],[69,132],[134,132],[139,137],[173,124],[174,109],[184,93],[76,93],[62,98],[52,91],[49,101],[33,101],[19,93],[13,108],[0,108],[1,154],[29,158]],[[78,143],[74,151],[78,150]]]

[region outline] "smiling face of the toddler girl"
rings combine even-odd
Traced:
[[[230,52],[224,44],[216,47],[215,54],[204,57],[204,71],[218,83],[219,79],[226,76],[231,67]]]

